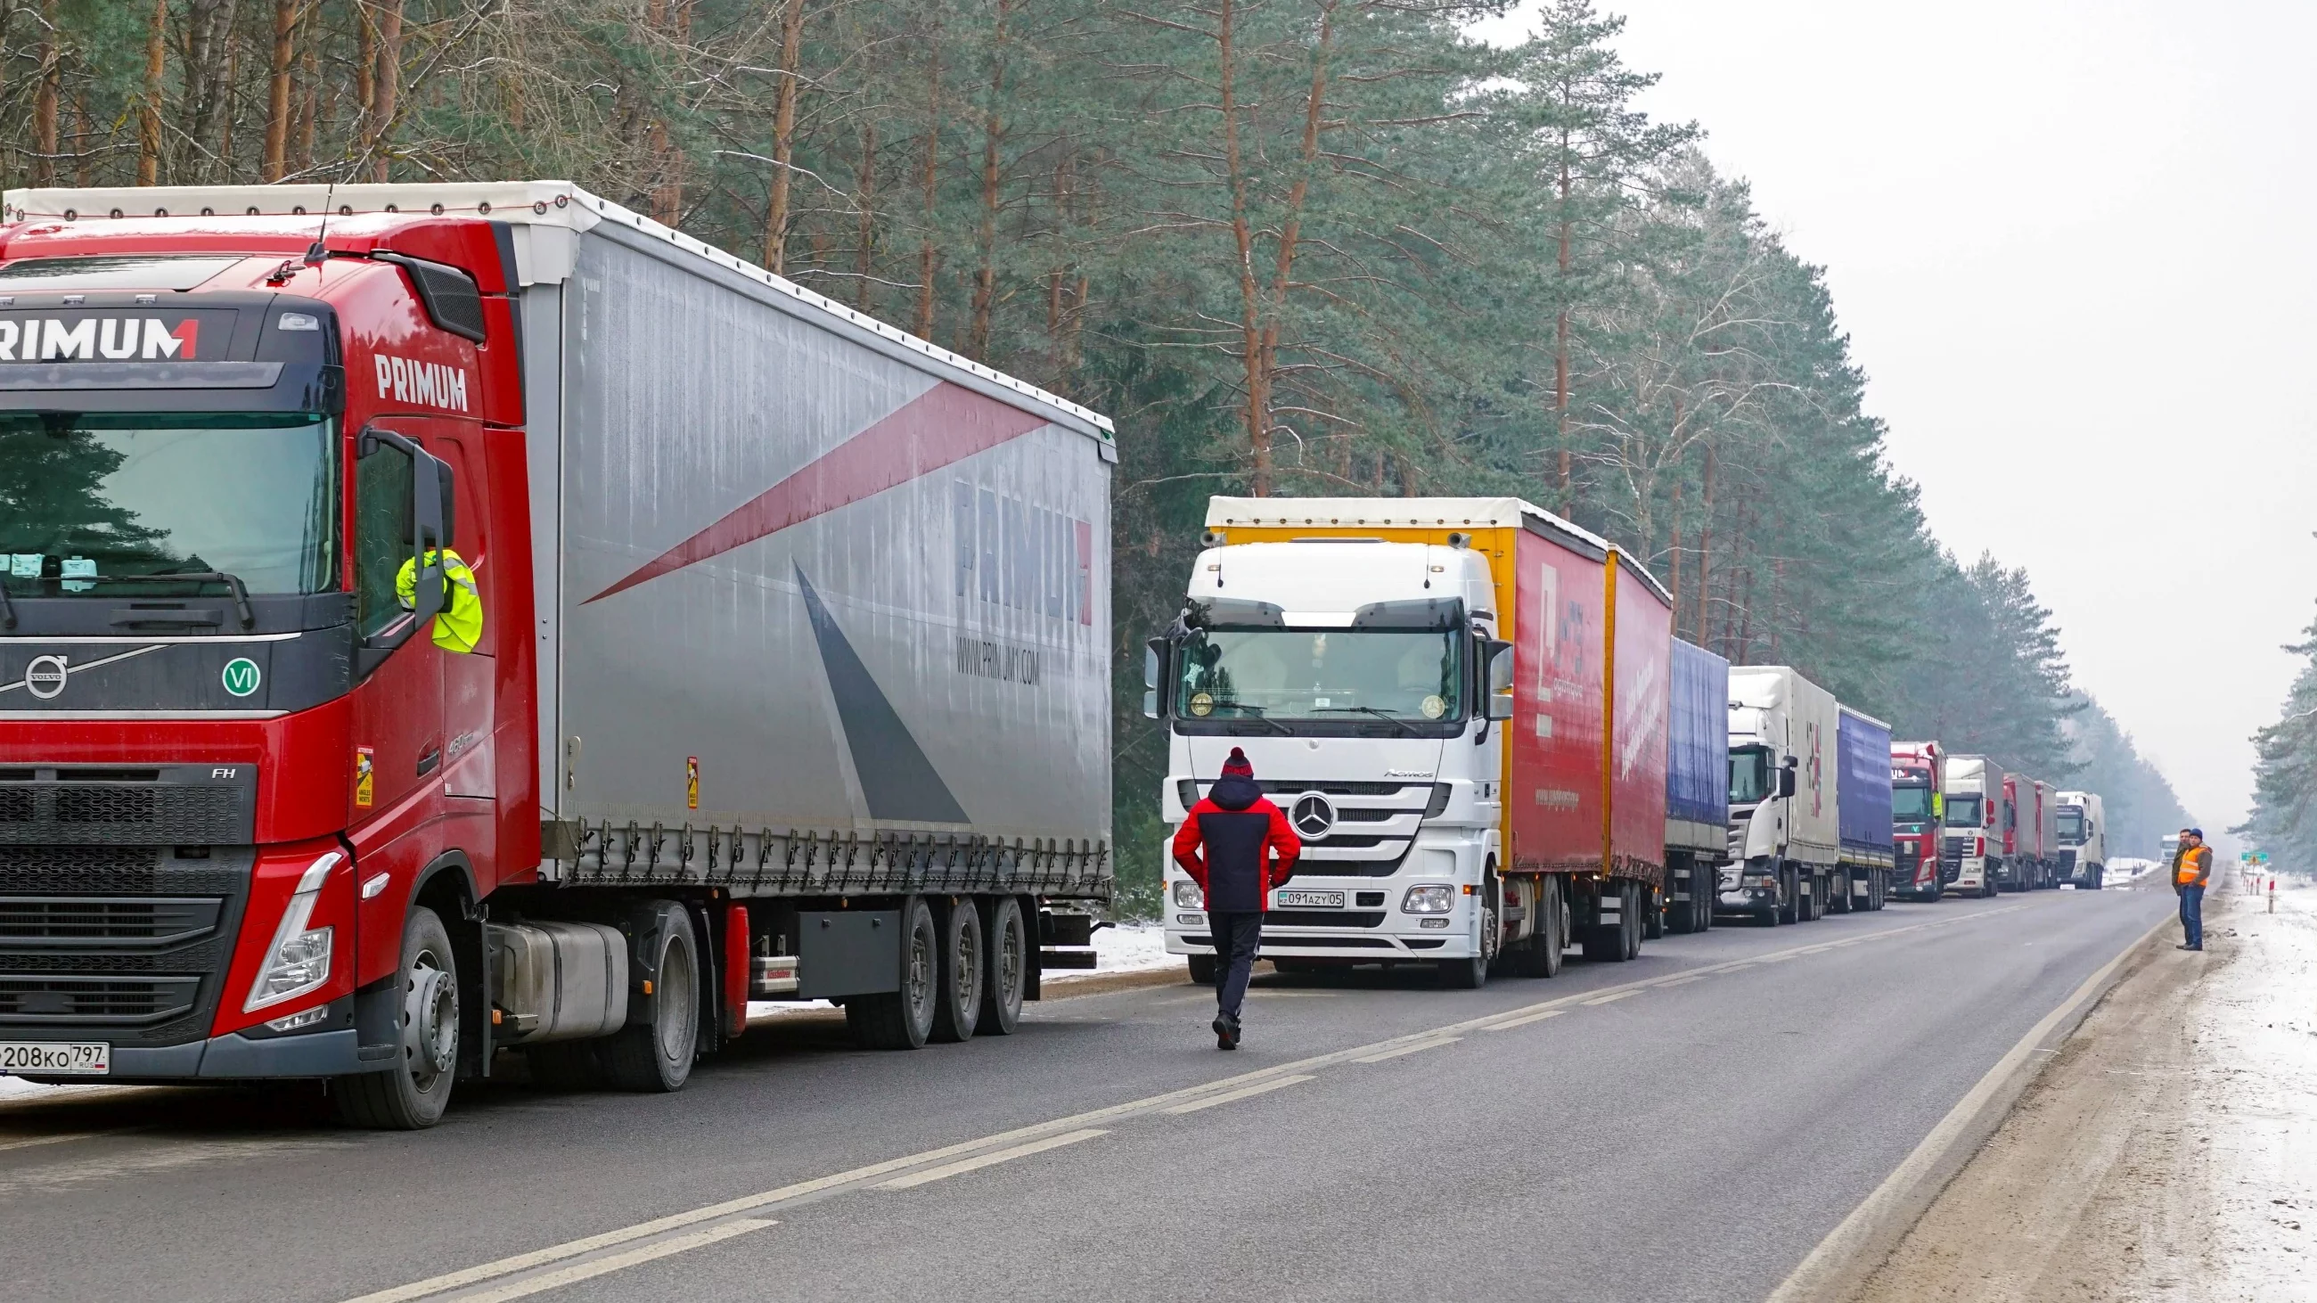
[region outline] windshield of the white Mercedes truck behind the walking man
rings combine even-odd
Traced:
[[[1198,628],[1182,719],[1457,719],[1464,638],[1448,631]]]

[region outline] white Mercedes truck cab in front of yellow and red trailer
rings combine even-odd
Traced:
[[[1511,675],[1490,559],[1362,538],[1212,545],[1184,598],[1145,652],[1145,714],[1168,728],[1163,814],[1177,828],[1230,749],[1247,751],[1302,839],[1263,958],[1485,981],[1506,733],[1490,714],[1511,703],[1490,691],[1490,663]],[[1198,883],[1163,862],[1165,948],[1212,981]]]

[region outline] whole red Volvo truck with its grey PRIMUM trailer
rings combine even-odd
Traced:
[[[7,204],[0,1073],[424,1127],[1091,967],[1103,417],[568,183]]]

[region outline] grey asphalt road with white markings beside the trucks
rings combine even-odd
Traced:
[[[755,1027],[674,1097],[0,1106],[9,1298],[1761,1298],[2171,893],[1893,904],[1437,990],[1191,985],[857,1053]]]

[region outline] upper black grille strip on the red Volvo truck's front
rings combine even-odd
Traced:
[[[250,765],[7,770],[0,774],[0,844],[246,844],[257,816],[253,774]]]

